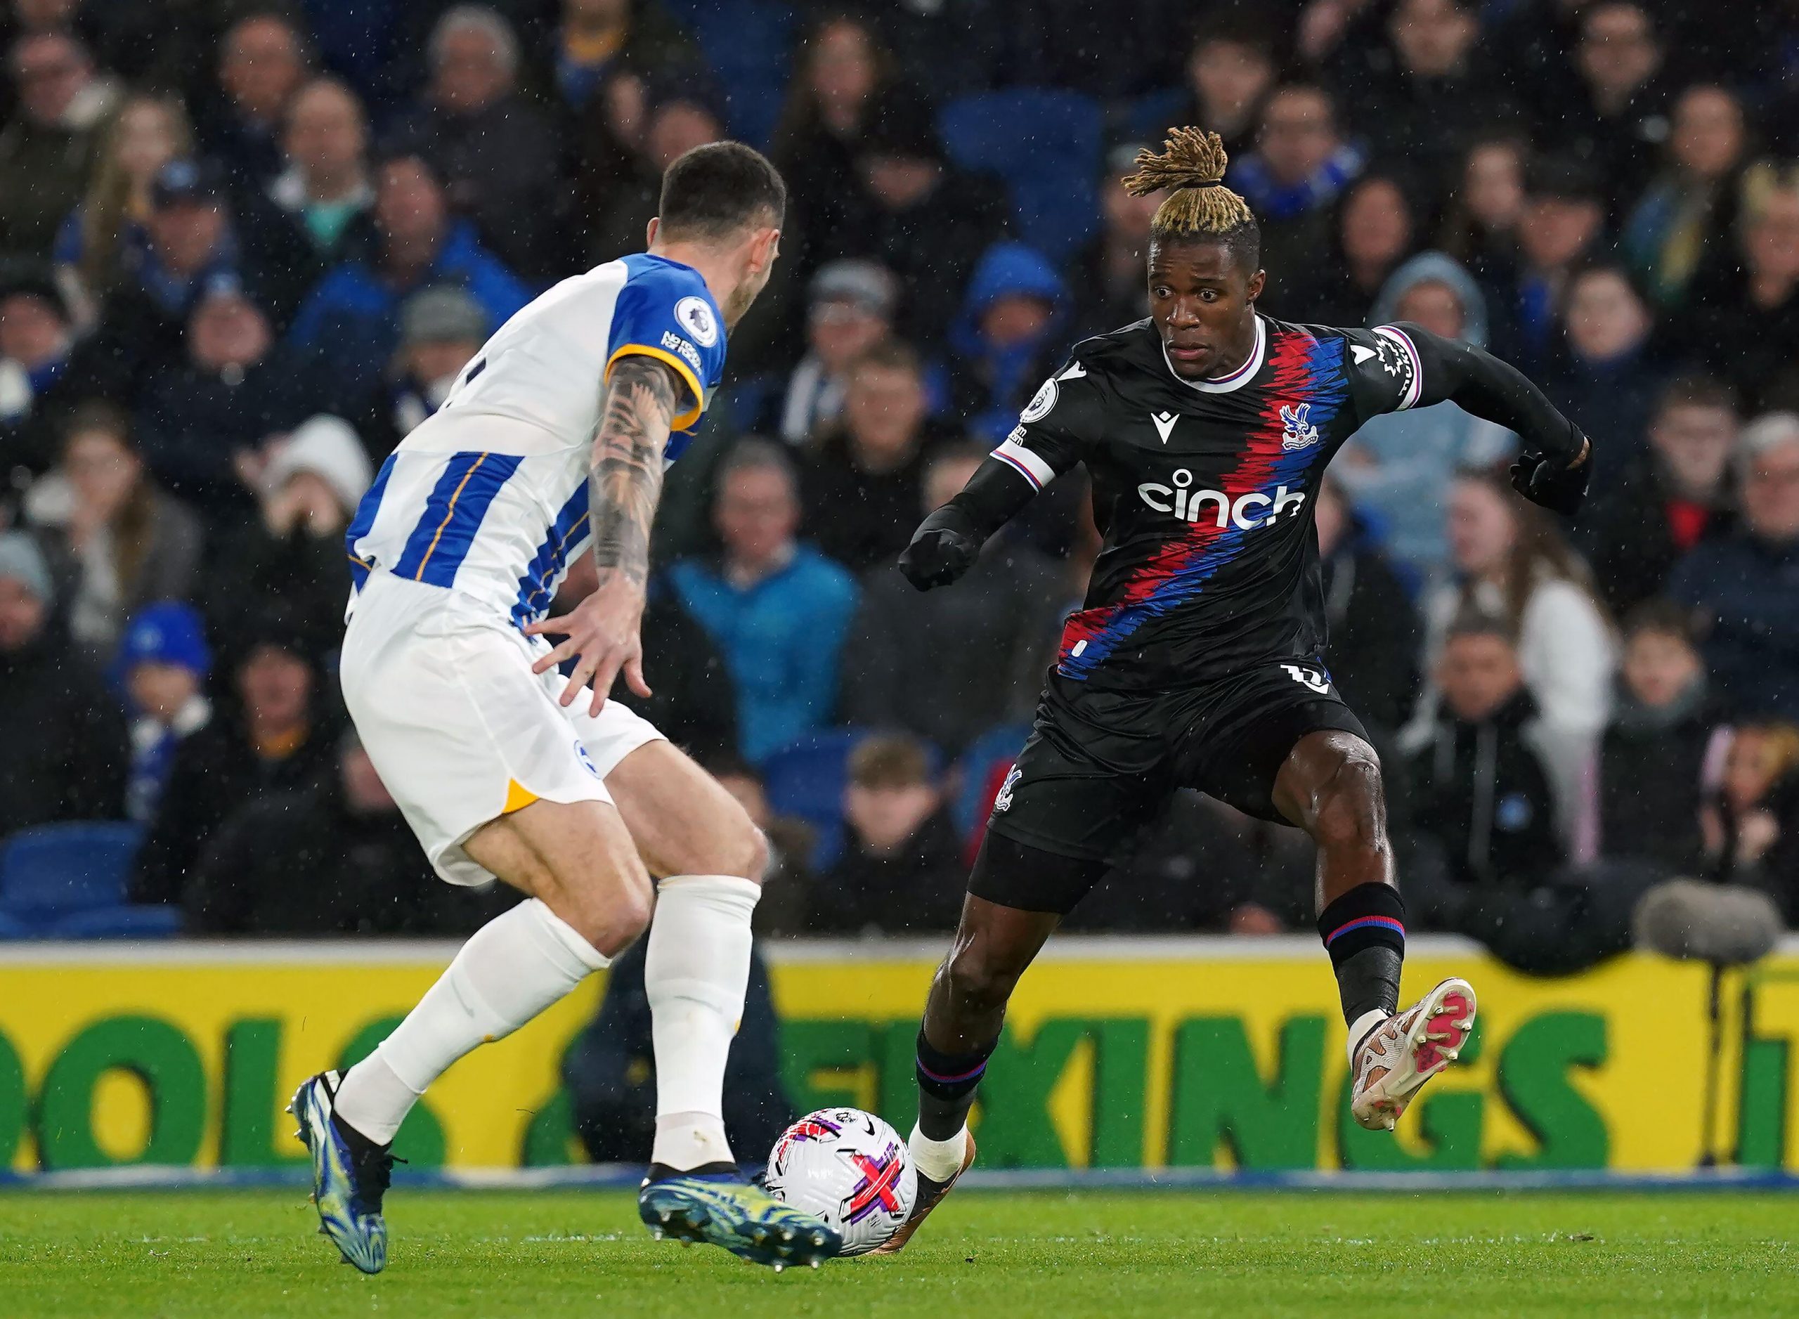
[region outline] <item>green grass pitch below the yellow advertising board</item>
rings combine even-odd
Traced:
[[[901,1256],[781,1276],[653,1243],[617,1191],[399,1188],[389,1222],[363,1278],[297,1191],[5,1191],[0,1314],[1799,1315],[1777,1193],[970,1189]]]

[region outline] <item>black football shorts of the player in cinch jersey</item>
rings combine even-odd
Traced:
[[[1292,824],[1274,804],[1274,777],[1319,729],[1367,740],[1320,664],[1270,662],[1155,693],[1096,691],[1051,673],[988,828],[1058,857],[1106,860],[1178,788]]]

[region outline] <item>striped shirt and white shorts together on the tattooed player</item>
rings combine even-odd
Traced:
[[[462,369],[381,464],[344,536],[354,594],[344,696],[437,873],[493,876],[461,842],[527,801],[610,801],[606,772],[658,738],[617,702],[556,702],[531,666],[541,619],[588,542],[588,466],[617,362],[667,363],[687,396],[673,462],[718,389],[725,324],[696,270],[635,254],[565,279]]]

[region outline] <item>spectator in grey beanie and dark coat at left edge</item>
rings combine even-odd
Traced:
[[[117,819],[124,718],[52,626],[56,590],[38,542],[0,534],[0,839],[32,824]]]

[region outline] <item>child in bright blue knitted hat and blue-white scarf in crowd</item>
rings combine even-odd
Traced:
[[[117,669],[131,714],[124,812],[142,824],[157,815],[175,750],[212,722],[203,691],[212,651],[200,612],[176,599],[140,608],[126,623]]]

